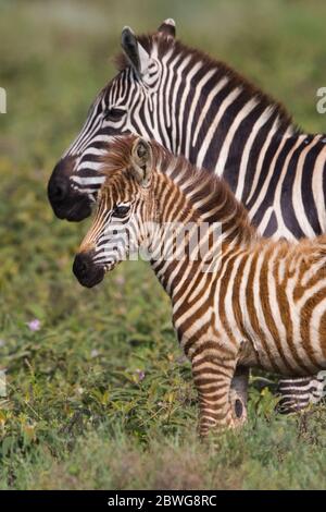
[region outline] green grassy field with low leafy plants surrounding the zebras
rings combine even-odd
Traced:
[[[72,275],[88,222],[53,218],[46,185],[96,93],[121,28],[175,17],[183,40],[227,61],[325,131],[321,1],[0,0],[0,488],[325,488],[326,410],[274,413],[256,377],[249,423],[196,438],[196,395],[150,268],[95,290]],[[32,320],[39,320],[32,330]]]

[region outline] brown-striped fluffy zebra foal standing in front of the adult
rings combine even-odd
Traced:
[[[326,367],[326,235],[262,237],[223,179],[134,135],[112,143],[102,172],[74,273],[93,287],[146,248],[192,365],[201,436],[243,420],[238,365],[289,377]]]

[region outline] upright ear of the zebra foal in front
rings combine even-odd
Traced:
[[[148,186],[152,167],[153,153],[150,143],[141,137],[136,138],[130,156],[131,174],[141,186]]]

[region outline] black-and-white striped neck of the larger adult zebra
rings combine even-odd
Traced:
[[[250,181],[260,149],[272,137],[287,138],[299,129],[281,105],[223,63],[203,60],[191,70],[191,80],[184,72],[174,95],[171,147],[199,168],[226,176],[242,199],[239,176]]]

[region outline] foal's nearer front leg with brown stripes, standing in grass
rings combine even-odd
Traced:
[[[199,398],[199,435],[233,428],[239,424],[231,402],[230,386],[236,358],[205,357],[192,361],[192,375]]]

